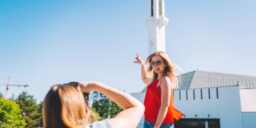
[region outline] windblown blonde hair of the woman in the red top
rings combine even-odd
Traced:
[[[172,63],[167,53],[164,53],[163,51],[154,52],[151,55],[149,55],[149,57],[147,57],[146,63],[151,63],[152,58],[156,55],[159,55],[164,61],[164,64],[166,65],[162,76],[169,76],[172,82],[172,89],[178,88],[179,80],[177,79],[177,75],[175,73],[177,66]],[[152,65],[149,64],[149,67],[147,68],[147,73],[149,74],[152,73],[152,70],[153,70]],[[158,77],[158,74],[154,73],[153,71],[153,80],[157,79],[157,77]]]

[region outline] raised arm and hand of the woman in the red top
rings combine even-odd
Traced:
[[[150,82],[152,81],[152,79],[147,76],[145,64],[144,64],[142,58],[140,58],[139,53],[136,53],[136,54],[137,54],[137,57],[135,58],[136,61],[134,61],[134,63],[139,63],[139,65],[141,66],[141,70],[142,70],[142,81],[146,85],[149,85]]]

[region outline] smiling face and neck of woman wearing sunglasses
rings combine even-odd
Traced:
[[[164,73],[164,68],[165,68],[165,64],[164,64],[164,60],[162,60],[162,58],[159,56],[159,55],[155,55],[153,58],[152,58],[152,61],[151,62],[157,62],[157,61],[161,61],[161,65],[152,65],[152,68],[154,70],[154,73],[157,73],[158,74],[158,80],[160,78],[162,78],[162,75]]]

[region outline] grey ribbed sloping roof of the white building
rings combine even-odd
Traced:
[[[179,89],[226,87],[239,85],[240,89],[256,88],[256,77],[194,70],[179,77]],[[146,87],[142,90],[146,92]]]

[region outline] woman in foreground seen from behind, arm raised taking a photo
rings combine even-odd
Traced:
[[[89,106],[83,92],[98,91],[123,109],[116,117],[89,124]],[[106,127],[137,127],[144,105],[131,95],[101,82],[69,82],[54,85],[46,94],[43,106],[44,128],[76,127],[104,124]],[[104,122],[104,123],[103,123]]]

